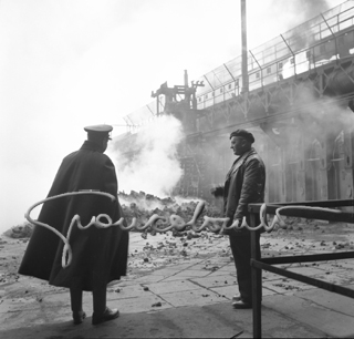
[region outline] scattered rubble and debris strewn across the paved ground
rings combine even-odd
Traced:
[[[129,195],[119,194],[119,201],[124,215],[127,219],[137,217],[139,223],[146,223],[155,213],[169,217],[171,214],[181,216],[186,222],[190,220],[198,201],[192,199],[160,199],[143,192]],[[202,223],[204,215],[210,217],[220,217],[220,210],[207,204],[206,210],[199,218]],[[270,224],[271,220],[269,220]],[[274,228],[273,232],[264,233],[261,236],[261,251],[263,257],[293,256],[315,253],[333,253],[354,249],[353,225],[345,223],[327,223],[321,220],[311,220],[304,218],[284,217],[287,227]],[[128,220],[129,224],[129,220]],[[3,237],[0,237],[0,285],[15,282],[19,285],[18,267],[23,256],[23,250],[33,226],[29,223],[10,228]],[[222,263],[233,265],[231,249],[228,245],[228,236],[215,234],[208,230],[195,233],[191,229],[178,232],[176,229],[167,233],[154,233],[150,230],[134,230],[135,237],[143,237],[142,246],[134,248],[128,257],[129,277],[139,277],[148,271],[159,269],[165,266],[186,263],[190,259],[206,259],[201,268],[210,273],[221,268]],[[209,260],[209,258],[219,258],[219,261]],[[223,259],[220,259],[223,258]],[[321,263],[322,265],[323,263]],[[324,263],[325,264],[325,263]],[[319,267],[317,263],[300,264],[301,267]],[[339,267],[339,261],[329,261],[326,264],[326,274]],[[287,267],[285,267],[287,268]],[[263,277],[269,281],[269,277]],[[225,285],[237,284],[236,281],[222,280]],[[55,287],[49,286],[52,289]],[[278,281],[274,285],[285,290],[300,290],[301,287],[288,281]],[[144,287],[148,290],[148,287]],[[0,290],[1,291],[1,290]],[[112,291],[122,292],[122,288],[114,288]],[[21,289],[21,294],[29,296],[31,288]],[[10,297],[7,296],[7,297]],[[4,296],[0,294],[0,304]],[[38,297],[41,302],[41,297]],[[162,305],[155,305],[158,307]]]

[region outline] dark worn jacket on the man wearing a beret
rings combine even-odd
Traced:
[[[247,217],[248,204],[264,202],[266,166],[254,148],[238,157],[226,176],[223,186],[223,213],[233,219]],[[244,233],[247,228],[238,233]]]

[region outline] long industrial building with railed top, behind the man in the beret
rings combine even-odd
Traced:
[[[235,160],[229,134],[253,133],[267,166],[266,202],[352,199],[354,194],[354,2],[346,1],[183,85],[167,83],[124,119],[118,137],[137,152],[139,126],[162,115],[183,123],[183,176],[173,195],[211,201]],[[345,207],[351,208],[351,207]]]

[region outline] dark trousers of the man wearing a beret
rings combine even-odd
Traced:
[[[253,230],[250,230],[253,232]],[[251,234],[230,235],[230,247],[237,273],[237,282],[243,302],[252,302]],[[260,254],[260,233],[257,232],[257,251]]]

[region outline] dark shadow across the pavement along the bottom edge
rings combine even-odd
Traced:
[[[2,339],[85,338],[252,338],[252,310],[235,310],[229,302],[202,307],[179,307],[144,314],[124,314],[92,326],[54,322],[0,331]],[[323,332],[288,319],[271,309],[262,310],[263,338],[324,338]],[[53,319],[55,320],[55,319]]]

